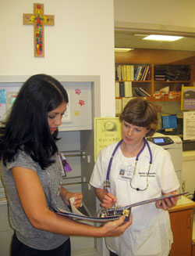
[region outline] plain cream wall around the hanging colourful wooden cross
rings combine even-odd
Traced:
[[[113,0],[41,0],[55,26],[44,28],[44,58],[34,57],[33,0],[0,0],[0,75],[100,75],[101,116],[115,115]]]

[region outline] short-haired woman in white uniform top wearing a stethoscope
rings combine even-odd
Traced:
[[[176,194],[179,182],[172,160],[161,146],[147,142],[158,126],[155,106],[144,98],[133,98],[120,115],[122,141],[101,150],[94,165],[90,185],[94,186],[101,206],[129,205],[162,195]],[[108,165],[112,157],[109,182],[105,186]],[[110,183],[110,187],[108,187]],[[178,197],[170,200],[132,207],[133,223],[119,237],[106,238],[110,255],[167,256],[172,244],[168,208],[176,205]]]

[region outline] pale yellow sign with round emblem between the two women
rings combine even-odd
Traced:
[[[119,117],[94,118],[94,161],[98,153],[114,142],[122,139]]]

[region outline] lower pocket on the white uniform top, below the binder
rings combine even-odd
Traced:
[[[161,236],[158,226],[139,231],[134,230],[132,239],[133,255],[161,255]]]

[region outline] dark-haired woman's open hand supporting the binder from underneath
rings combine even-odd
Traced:
[[[107,222],[105,225],[101,227],[102,229],[102,236],[121,236],[126,229],[129,227],[129,225],[132,224],[132,214],[130,214],[129,221],[125,221],[125,216],[122,215],[119,219]]]

